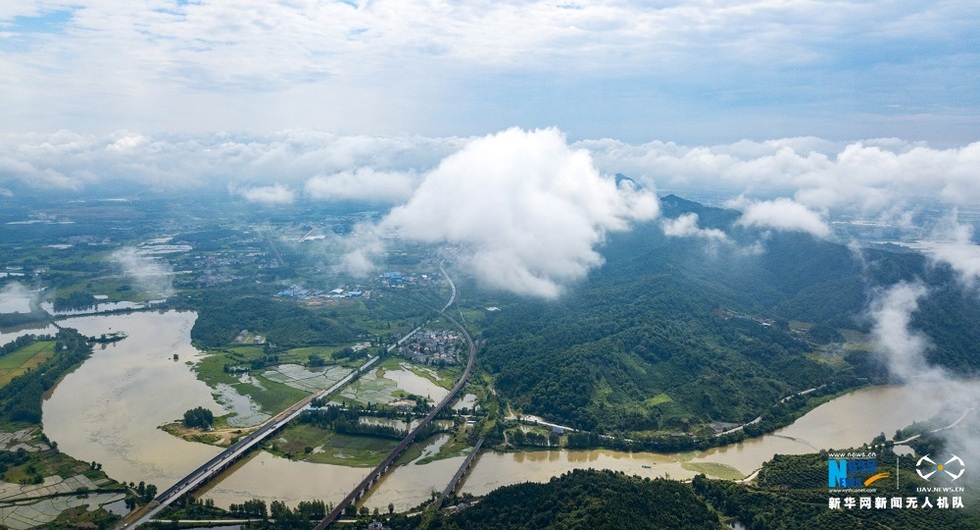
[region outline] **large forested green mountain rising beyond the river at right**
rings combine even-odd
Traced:
[[[829,355],[817,343],[867,331],[874,289],[916,278],[930,287],[913,327],[932,338],[931,360],[980,367],[980,328],[951,325],[978,321],[980,303],[947,267],[915,253],[859,259],[842,244],[744,228],[736,211],[675,196],[662,206],[668,219],[696,213],[728,241],[641,225],[613,235],[605,265],[559,300],[514,300],[493,313],[480,358],[516,407],[585,429],[746,422],[794,391],[881,373],[868,356]],[[794,333],[790,320],[822,333]]]

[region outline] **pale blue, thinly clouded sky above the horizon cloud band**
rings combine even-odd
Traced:
[[[316,129],[688,144],[980,131],[964,1],[0,7],[0,131]]]

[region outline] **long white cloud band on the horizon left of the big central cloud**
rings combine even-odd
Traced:
[[[347,175],[350,178],[340,191],[349,196],[357,195],[358,185],[368,193],[373,178],[380,179],[379,188],[389,187],[393,200],[397,194],[407,196],[413,173],[431,169],[462,142],[317,131],[263,136],[150,136],[130,131],[8,134],[0,135],[0,186],[95,192],[111,187],[112,193],[118,192],[119,184],[154,191],[272,187],[262,191],[284,198],[282,188],[302,189],[317,175]],[[406,181],[395,182],[401,174]],[[360,176],[368,183],[355,182]],[[312,189],[317,191],[316,186]]]

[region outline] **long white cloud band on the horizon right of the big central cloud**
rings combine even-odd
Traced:
[[[816,138],[694,147],[613,140],[578,145],[594,154],[601,170],[655,182],[658,189],[717,190],[761,199],[792,196],[813,210],[862,214],[891,214],[921,197],[980,203],[980,142],[948,149],[897,139],[837,145]]]

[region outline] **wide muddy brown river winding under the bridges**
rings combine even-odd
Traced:
[[[64,321],[63,325],[87,335],[123,331],[129,338],[96,347],[92,358],[56,387],[43,406],[48,437],[67,454],[102,463],[117,480],[142,480],[161,491],[216,454],[215,447],[184,442],[158,428],[199,405],[220,410],[211,389],[188,365],[201,355],[190,345],[194,318],[190,312],[146,311]],[[0,343],[12,336],[0,334]],[[174,353],[179,354],[179,362],[173,361]],[[949,397],[935,388],[925,393],[909,386],[865,388],[818,407],[776,433],[702,453],[486,452],[476,460],[462,491],[479,495],[503,485],[543,482],[587,467],[684,479],[694,476],[699,465],[712,464],[713,468],[700,469],[724,467],[733,475],[746,475],[776,453],[857,446],[879,432],[891,436],[913,420],[934,415]],[[437,438],[434,443],[440,441]],[[416,506],[432,491],[441,491],[462,460],[455,457],[397,468],[367,497],[366,505],[382,511],[388,503],[399,510]],[[289,505],[316,499],[335,503],[367,471],[291,462],[259,451],[201,496],[225,507],[252,498],[279,499]]]

